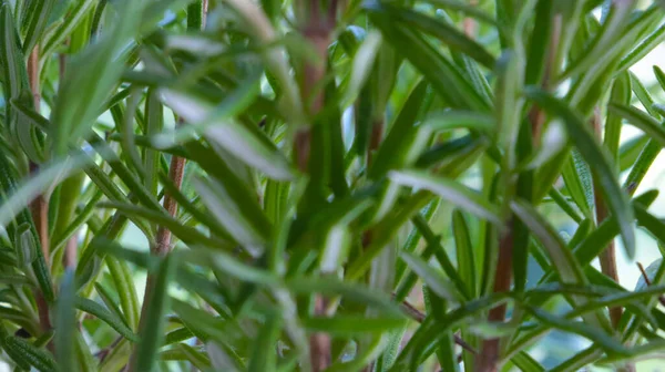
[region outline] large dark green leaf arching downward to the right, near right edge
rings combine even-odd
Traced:
[[[589,125],[584,123],[570,107],[538,89],[530,89],[528,96],[535,101],[543,110],[560,116],[569,132],[569,136],[580,151],[580,154],[590,165],[594,179],[603,192],[603,199],[612,214],[616,217],[622,231],[624,249],[628,257],[635,255],[635,231],[633,230],[633,210],[630,207],[626,194],[618,186],[614,167],[605,152],[597,144]]]

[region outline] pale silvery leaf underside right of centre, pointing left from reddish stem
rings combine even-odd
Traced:
[[[441,176],[432,176],[421,170],[392,170],[390,179],[402,186],[428,189],[461,210],[473,214],[490,223],[502,225],[498,207],[482,198],[479,193]]]

